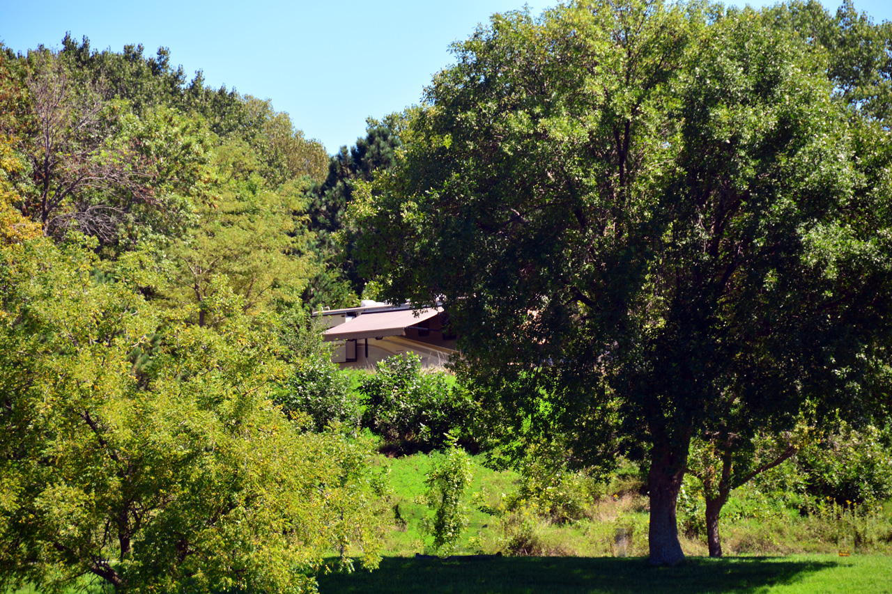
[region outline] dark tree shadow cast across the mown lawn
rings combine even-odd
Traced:
[[[675,567],[651,567],[645,558],[497,557],[441,561],[389,557],[374,572],[332,573],[319,576],[318,582],[321,594],[712,594],[728,591],[756,594],[769,586],[799,582],[810,573],[835,565],[764,557],[689,558]]]

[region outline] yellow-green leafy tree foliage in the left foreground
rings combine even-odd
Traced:
[[[351,543],[376,565],[368,444],[273,406],[274,326],[224,282],[215,323],[187,324],[128,260],[112,282],[96,263],[78,243],[0,251],[0,588],[306,591]],[[135,347],[156,363],[135,372]]]

